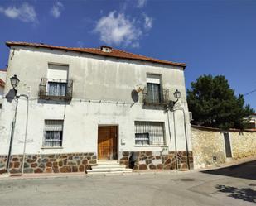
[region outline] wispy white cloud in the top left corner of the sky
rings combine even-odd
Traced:
[[[19,19],[22,22],[37,22],[36,11],[29,3],[22,3],[21,7],[0,7],[0,13],[12,19]]]

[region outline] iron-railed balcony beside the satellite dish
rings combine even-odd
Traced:
[[[169,89],[143,89],[144,106],[164,106],[169,100]]]

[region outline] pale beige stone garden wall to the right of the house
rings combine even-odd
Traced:
[[[233,159],[256,155],[256,131],[229,130]],[[191,127],[195,168],[225,163],[224,132],[209,127]]]

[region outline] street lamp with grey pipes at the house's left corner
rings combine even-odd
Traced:
[[[15,113],[14,117],[12,120],[12,132],[11,132],[11,138],[10,138],[10,146],[9,146],[9,151],[8,151],[8,158],[7,158],[7,172],[9,171],[10,168],[10,162],[11,162],[11,155],[12,155],[12,142],[13,142],[13,136],[14,136],[14,131],[15,131],[15,126],[16,126],[16,117],[17,117],[17,106],[18,106],[18,99],[20,97],[25,97],[27,98],[27,118],[26,118],[26,130],[25,130],[25,140],[24,140],[24,149],[23,149],[23,156],[22,156],[22,174],[24,170],[24,160],[25,160],[25,151],[26,151],[26,143],[27,143],[27,122],[28,122],[28,96],[26,94],[19,94],[17,95],[17,85],[20,82],[20,79],[17,78],[17,75],[14,74],[10,78],[10,82],[12,85],[12,89],[14,90],[15,96],[13,99],[16,99],[16,107],[15,107]]]

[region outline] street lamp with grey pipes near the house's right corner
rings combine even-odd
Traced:
[[[186,162],[188,169],[190,169],[190,163],[189,163],[189,155],[188,155],[188,144],[187,144],[187,134],[186,134],[186,114],[184,111],[184,108],[176,108],[175,105],[181,98],[181,92],[176,89],[176,91],[173,93],[174,98],[176,98],[175,101],[170,101],[167,105],[167,110],[170,110],[173,112],[173,125],[174,125],[174,138],[175,138],[175,153],[176,153],[176,170],[178,169],[178,157],[177,157],[177,146],[176,146],[176,123],[175,123],[175,111],[181,110],[183,113],[183,122],[184,122],[184,130],[185,130],[185,141],[186,141]],[[167,111],[168,112],[168,111]]]

